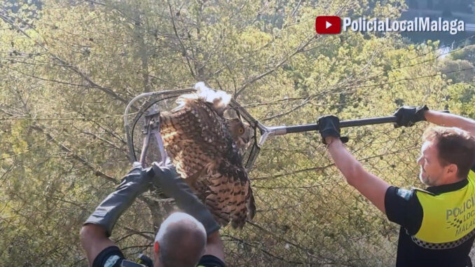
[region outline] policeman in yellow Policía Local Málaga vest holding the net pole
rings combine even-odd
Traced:
[[[436,125],[422,136],[418,164],[422,189],[400,189],[366,171],[345,149],[336,116],[319,118],[323,142],[354,186],[390,221],[401,226],[397,266],[471,266],[469,252],[475,237],[475,121],[430,111],[401,107],[396,127],[418,121]],[[441,127],[445,126],[445,127]]]

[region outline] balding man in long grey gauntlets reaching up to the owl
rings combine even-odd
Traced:
[[[202,267],[223,267],[219,225],[179,177],[174,166],[157,163],[148,169],[135,163],[116,191],[107,196],[85,221],[81,229],[81,244],[90,266],[143,266],[125,259],[109,236],[121,214],[152,184],[174,198],[183,211],[170,215],[161,224],[153,244],[153,266],[191,267],[198,264]],[[151,263],[146,266],[151,266]]]

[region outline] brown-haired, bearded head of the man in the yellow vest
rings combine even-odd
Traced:
[[[422,135],[419,179],[428,186],[467,179],[475,161],[475,139],[459,128],[434,127]]]

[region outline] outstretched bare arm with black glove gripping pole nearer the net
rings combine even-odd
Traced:
[[[340,138],[340,120],[336,116],[319,118],[319,132],[324,144],[327,144],[330,156],[348,184],[357,189],[363,196],[382,212],[385,212],[385,193],[390,187],[387,182],[368,172],[352,154],[347,151]]]

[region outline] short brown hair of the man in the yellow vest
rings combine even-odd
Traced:
[[[457,165],[457,177],[467,178],[475,162],[475,139],[469,132],[459,128],[436,126],[428,128],[422,141],[433,141],[439,153],[441,165]]]

